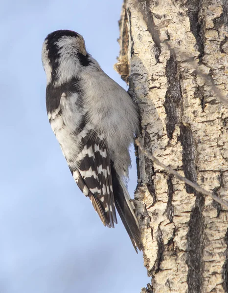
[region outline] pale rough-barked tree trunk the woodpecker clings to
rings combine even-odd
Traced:
[[[141,145],[222,199],[228,198],[228,105],[203,74],[228,94],[227,24],[228,0],[125,1],[115,65],[146,103],[139,104]],[[135,203],[152,277],[142,292],[228,292],[228,212],[140,151],[138,158]]]

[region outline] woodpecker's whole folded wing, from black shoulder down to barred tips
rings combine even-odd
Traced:
[[[77,83],[74,83],[75,88]],[[47,87],[49,122],[81,191],[90,198],[102,223],[117,223],[110,159],[105,138],[86,123],[80,92],[74,86]]]

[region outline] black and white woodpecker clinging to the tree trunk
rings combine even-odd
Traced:
[[[101,69],[74,31],[48,34],[42,63],[47,116],[74,180],[104,226],[114,228],[118,211],[135,250],[141,250],[126,187],[129,146],[139,131],[137,103]]]

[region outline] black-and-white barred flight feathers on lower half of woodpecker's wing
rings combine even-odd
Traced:
[[[78,187],[90,197],[102,223],[114,227],[117,220],[107,146],[102,135],[88,126],[85,128],[86,131],[78,134],[81,150],[77,157],[77,167],[74,170],[69,164],[69,168]]]

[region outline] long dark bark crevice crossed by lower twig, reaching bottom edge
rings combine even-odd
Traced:
[[[180,125],[179,140],[182,145],[182,164],[185,178],[196,183],[197,172],[195,163],[195,147],[190,127]],[[188,266],[187,284],[188,293],[202,292],[203,285],[203,251],[204,251],[204,209],[205,198],[194,188],[185,185],[187,193],[196,196],[195,208],[191,212],[189,229],[187,233],[187,258]]]

